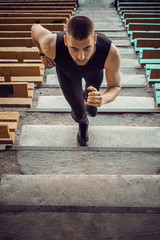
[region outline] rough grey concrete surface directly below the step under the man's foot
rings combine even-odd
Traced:
[[[23,174],[157,175],[160,154],[102,151],[19,151]]]

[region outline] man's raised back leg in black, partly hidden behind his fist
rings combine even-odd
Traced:
[[[103,70],[97,70],[94,72],[87,73],[84,76],[86,81],[85,91],[84,91],[84,98],[87,101],[89,91],[87,88],[89,86],[95,87],[98,91],[103,81]],[[87,112],[90,116],[95,117],[97,115],[97,107],[87,105]]]

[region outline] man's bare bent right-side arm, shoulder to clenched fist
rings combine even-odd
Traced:
[[[90,86],[88,90],[87,104],[95,107],[100,107],[103,104],[112,102],[120,93],[121,90],[121,74],[120,74],[120,54],[114,44],[111,44],[111,48],[105,62],[107,88],[102,94],[97,91],[96,88]]]

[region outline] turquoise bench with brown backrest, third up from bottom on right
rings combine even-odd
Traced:
[[[160,64],[160,50],[141,49],[139,57],[140,64]]]

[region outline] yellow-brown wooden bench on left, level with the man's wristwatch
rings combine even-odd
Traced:
[[[0,48],[0,63],[2,62],[41,62],[37,49],[33,48]]]

